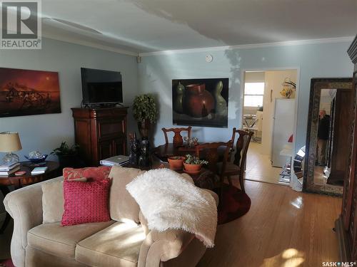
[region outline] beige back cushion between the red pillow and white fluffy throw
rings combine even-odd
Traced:
[[[135,221],[139,223],[139,205],[131,194],[126,191],[126,184],[129,184],[144,171],[134,168],[113,166],[109,178],[112,179],[109,194],[109,210],[111,219],[115,221]]]

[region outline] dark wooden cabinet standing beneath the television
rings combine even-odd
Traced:
[[[128,108],[72,108],[76,144],[90,166],[101,159],[126,155]]]

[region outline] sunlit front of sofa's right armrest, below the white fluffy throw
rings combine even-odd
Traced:
[[[141,245],[138,267],[159,267],[161,261],[179,256],[194,238],[194,234],[178,229],[150,231]]]

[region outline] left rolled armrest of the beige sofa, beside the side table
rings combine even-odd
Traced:
[[[46,182],[23,187],[6,194],[4,205],[14,219],[14,233],[11,239],[11,258],[15,266],[24,266],[27,232],[42,224],[42,188],[41,184],[63,179],[57,177]]]

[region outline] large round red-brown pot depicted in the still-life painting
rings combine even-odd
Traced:
[[[183,96],[183,110],[191,117],[206,117],[214,108],[214,99],[205,84],[186,86]]]

